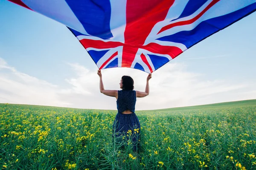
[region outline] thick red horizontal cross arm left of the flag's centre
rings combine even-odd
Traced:
[[[79,40],[81,44],[84,46],[84,48],[98,48],[98,49],[104,49],[104,48],[115,48],[118,46],[124,45],[122,42],[104,42],[101,40],[90,40],[90,39],[82,39]]]

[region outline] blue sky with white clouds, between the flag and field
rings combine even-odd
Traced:
[[[199,42],[152,74],[137,110],[256,99],[256,13]],[[97,66],[61,23],[0,0],[0,103],[116,109],[99,92]],[[105,89],[122,75],[144,91],[147,73],[102,70]]]

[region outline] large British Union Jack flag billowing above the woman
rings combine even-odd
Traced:
[[[65,24],[99,69],[148,73],[256,10],[256,0],[10,0]]]

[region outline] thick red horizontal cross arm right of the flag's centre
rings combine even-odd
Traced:
[[[168,54],[172,59],[182,53],[182,50],[178,47],[159,45],[154,42],[151,42],[142,48],[156,54]]]

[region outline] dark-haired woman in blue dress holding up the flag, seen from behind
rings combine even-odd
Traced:
[[[148,74],[145,92],[134,91],[134,81],[130,76],[123,76],[119,85],[122,89],[117,90],[105,90],[102,82],[102,73],[98,70],[99,75],[99,90],[101,93],[116,97],[117,111],[116,118],[113,123],[113,138],[115,136],[116,142],[120,143],[120,140],[124,137],[129,140],[133,145],[133,151],[140,150],[140,122],[135,112],[136,97],[145,97],[149,94],[148,81],[151,79],[151,74]],[[132,136],[132,137],[131,137]],[[128,144],[129,141],[126,143]],[[122,145],[123,147],[123,145]]]

